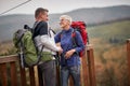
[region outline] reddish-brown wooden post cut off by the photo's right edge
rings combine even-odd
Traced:
[[[128,60],[129,82],[130,82],[130,39],[127,40],[127,60]]]

